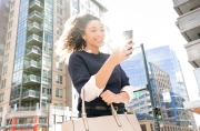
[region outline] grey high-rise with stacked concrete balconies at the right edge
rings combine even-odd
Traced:
[[[173,8],[179,14],[177,27],[188,43],[184,48],[188,53],[188,62],[194,68],[197,81],[200,72],[200,1],[173,0]],[[198,82],[199,83],[199,82]],[[184,108],[200,114],[200,99],[184,102]]]

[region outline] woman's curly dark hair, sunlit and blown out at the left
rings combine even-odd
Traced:
[[[66,61],[69,53],[81,51],[86,48],[86,41],[82,39],[84,29],[91,20],[99,20],[99,18],[86,13],[76,18],[69,19],[64,24],[64,30],[56,43],[56,52],[60,60]]]

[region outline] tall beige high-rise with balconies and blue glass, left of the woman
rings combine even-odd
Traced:
[[[2,127],[27,124],[27,118],[50,118],[47,110],[41,110],[47,104],[77,108],[78,94],[67,66],[59,62],[54,43],[68,18],[89,12],[103,20],[104,11],[98,0],[0,0]]]

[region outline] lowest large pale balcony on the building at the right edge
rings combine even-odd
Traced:
[[[200,39],[184,44],[184,48],[188,53],[188,62],[193,68],[199,68],[200,67]]]

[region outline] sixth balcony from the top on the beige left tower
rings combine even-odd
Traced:
[[[29,71],[38,71],[41,70],[41,64],[38,61],[31,60],[24,66],[24,69]]]

